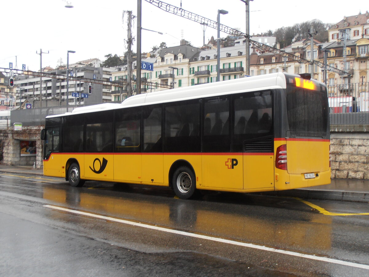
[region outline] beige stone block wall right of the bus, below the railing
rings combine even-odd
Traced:
[[[369,134],[331,133],[331,178],[369,179]]]

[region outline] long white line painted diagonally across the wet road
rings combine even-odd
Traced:
[[[369,265],[367,265],[367,264],[352,263],[352,262],[349,262],[349,261],[336,260],[336,259],[331,259],[331,258],[327,258],[327,257],[308,255],[308,254],[292,252],[292,251],[282,250],[282,249],[275,249],[275,248],[272,248],[272,247],[267,247],[267,246],[252,244],[252,243],[237,242],[237,241],[229,240],[229,239],[221,239],[219,237],[199,235],[199,234],[195,234],[195,233],[189,233],[189,232],[184,232],[184,231],[179,231],[179,230],[174,230],[174,229],[169,229],[169,228],[163,228],[163,227],[148,225],[148,224],[144,224],[144,223],[124,220],[124,219],[112,218],[110,216],[96,215],[94,213],[88,213],[88,212],[81,212],[81,211],[72,210],[72,209],[66,209],[66,208],[62,208],[62,207],[58,207],[58,206],[44,205],[44,207],[51,208],[51,209],[56,209],[56,210],[59,210],[59,211],[75,213],[77,215],[85,215],[85,216],[90,216],[90,217],[93,217],[93,218],[99,218],[99,219],[104,219],[104,220],[109,220],[109,221],[114,221],[114,222],[120,222],[120,223],[128,224],[128,225],[131,225],[131,226],[137,226],[137,227],[142,227],[142,228],[146,228],[146,229],[158,230],[158,231],[162,231],[162,232],[166,232],[166,233],[172,233],[172,234],[188,236],[188,237],[196,237],[198,239],[212,240],[214,242],[222,242],[222,243],[233,244],[233,245],[237,245],[237,246],[248,247],[248,248],[252,248],[252,249],[264,250],[264,251],[269,251],[269,252],[275,252],[275,253],[286,254],[286,255],[290,255],[290,256],[296,256],[296,257],[301,257],[301,258],[306,258],[306,259],[311,259],[311,260],[324,261],[324,262],[327,262],[327,263],[341,264],[341,265],[344,265],[344,266],[358,267],[360,269],[369,270]]]

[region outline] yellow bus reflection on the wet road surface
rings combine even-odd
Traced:
[[[210,236],[289,249],[303,248],[313,253],[331,249],[331,217],[293,211],[288,207],[282,207],[283,212],[280,203],[255,205],[237,199],[235,203],[186,201],[114,188],[59,189],[47,185],[43,198],[65,207]],[[53,213],[53,216],[60,219],[63,214]]]

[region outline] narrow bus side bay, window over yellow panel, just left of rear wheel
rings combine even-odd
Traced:
[[[142,107],[142,182],[163,184],[162,105]]]

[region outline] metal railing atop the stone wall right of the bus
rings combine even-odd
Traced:
[[[331,124],[369,124],[369,82],[328,85]]]

